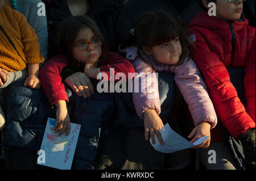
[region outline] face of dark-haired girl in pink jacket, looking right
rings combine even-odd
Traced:
[[[156,45],[150,51],[150,54],[162,64],[175,65],[182,52],[179,37],[162,45]]]

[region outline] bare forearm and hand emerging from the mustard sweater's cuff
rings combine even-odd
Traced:
[[[39,64],[27,64],[28,77],[24,82],[24,87],[30,87],[31,89],[39,89],[41,82],[39,80]]]

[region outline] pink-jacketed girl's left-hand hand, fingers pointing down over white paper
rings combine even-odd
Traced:
[[[150,132],[150,137],[152,144],[155,145],[155,134],[158,137],[158,140],[161,145],[164,144],[160,129],[163,128],[163,122],[155,112],[155,110],[146,110],[144,112],[144,136],[145,139],[148,139],[148,132]]]

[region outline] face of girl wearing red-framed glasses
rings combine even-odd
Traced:
[[[91,28],[82,28],[75,39],[73,57],[79,62],[94,64],[101,57],[101,45],[100,37]]]

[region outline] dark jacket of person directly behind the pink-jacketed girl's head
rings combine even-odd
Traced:
[[[179,18],[185,26],[199,12],[203,11],[196,0],[129,0],[122,8],[117,23],[117,40],[129,32],[134,24],[147,11],[164,10]]]

